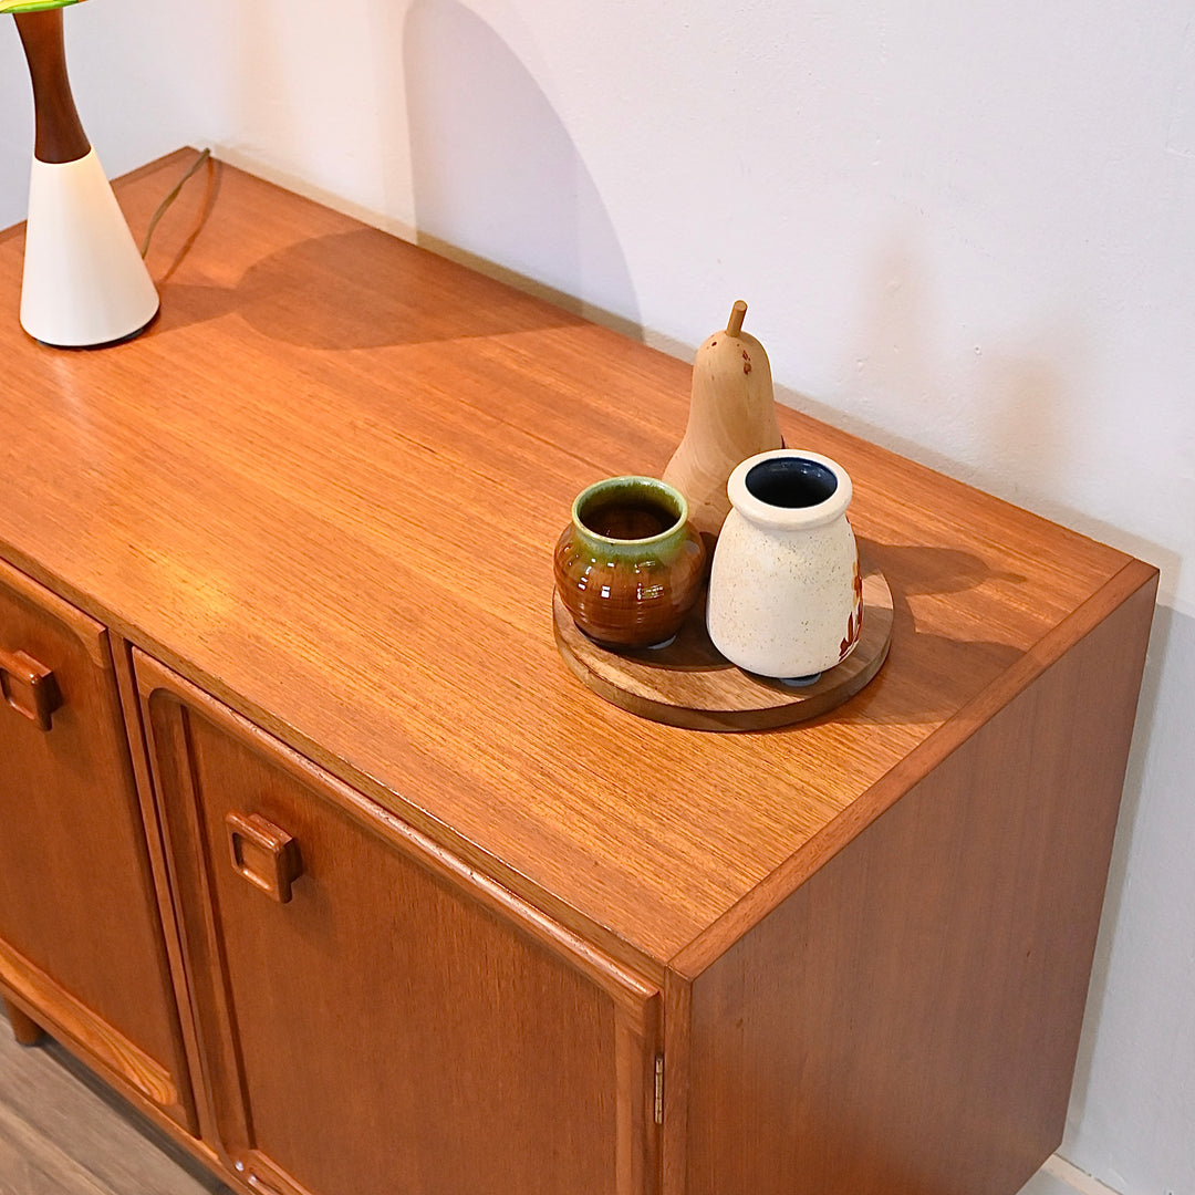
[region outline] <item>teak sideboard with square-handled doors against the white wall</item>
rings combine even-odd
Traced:
[[[140,232],[190,160],[118,186]],[[158,321],[0,234],[0,993],[257,1195],[1012,1195],[1061,1138],[1156,570],[808,418],[894,595],[832,715],[558,657],[688,366],[219,164]],[[736,296],[712,296],[711,326]]]

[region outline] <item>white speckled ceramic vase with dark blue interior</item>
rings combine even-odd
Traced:
[[[746,672],[811,682],[854,650],[863,623],[851,478],[828,456],[780,448],[744,460],[727,491],[710,638]]]

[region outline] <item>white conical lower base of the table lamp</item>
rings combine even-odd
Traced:
[[[20,323],[62,348],[140,332],[158,292],[92,149],[68,163],[33,159]]]

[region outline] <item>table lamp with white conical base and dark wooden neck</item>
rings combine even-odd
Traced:
[[[0,0],[0,13],[16,18],[36,116],[20,323],[57,348],[128,339],[158,312],[158,292],[71,94],[61,10],[76,2]]]

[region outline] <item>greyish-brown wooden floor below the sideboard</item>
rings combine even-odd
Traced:
[[[49,1038],[0,1013],[0,1195],[232,1195]]]

